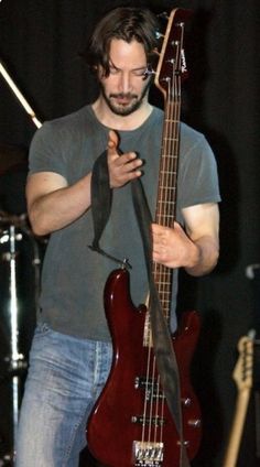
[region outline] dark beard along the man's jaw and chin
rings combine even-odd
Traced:
[[[111,93],[110,95],[107,95],[102,83],[100,83],[100,90],[109,109],[117,116],[127,117],[140,108],[150,86],[151,80],[149,79],[140,97],[138,97],[137,94],[131,93]],[[121,100],[121,102],[117,101],[117,99]]]

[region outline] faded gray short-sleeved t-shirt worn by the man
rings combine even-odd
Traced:
[[[145,161],[142,183],[152,214],[158,194],[162,123],[163,112],[154,108],[140,128],[119,132],[120,149],[136,151]],[[45,122],[31,144],[30,173],[55,172],[69,185],[75,183],[91,171],[98,155],[106,150],[108,131],[97,120],[91,106]],[[212,150],[203,134],[182,123],[176,218],[183,221],[181,210],[184,207],[219,199]],[[102,292],[116,263],[88,248],[93,239],[91,209],[51,235],[42,271],[39,319],[64,334],[109,340]],[[110,254],[129,260],[132,301],[136,305],[144,303],[148,279],[130,184],[112,192],[112,210],[100,246]],[[175,279],[173,308],[176,290]],[[174,311],[171,324],[174,330]]]

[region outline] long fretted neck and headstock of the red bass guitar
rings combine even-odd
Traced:
[[[176,215],[181,86],[183,79],[187,77],[184,54],[184,26],[189,15],[191,12],[187,10],[175,9],[171,12],[154,78],[155,86],[160,89],[164,98],[164,124],[155,222],[165,227],[174,226]],[[153,278],[163,314],[169,319],[172,271],[162,264],[154,263]],[[145,328],[150,328],[149,324]],[[144,340],[150,341],[147,338],[148,334],[144,334]]]

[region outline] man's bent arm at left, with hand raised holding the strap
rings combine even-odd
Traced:
[[[142,161],[134,152],[118,154],[118,135],[109,132],[108,170],[110,186],[123,186],[141,176]],[[91,204],[91,172],[75,184],[54,172],[37,172],[28,178],[28,213],[34,234],[48,235],[78,219]]]

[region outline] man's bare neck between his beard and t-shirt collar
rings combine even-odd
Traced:
[[[141,124],[148,119],[152,112],[152,106],[148,102],[148,100],[144,100],[141,107],[129,116],[118,116],[109,109],[102,96],[99,96],[93,104],[93,110],[97,119],[105,127],[119,131],[131,131],[141,127]]]

